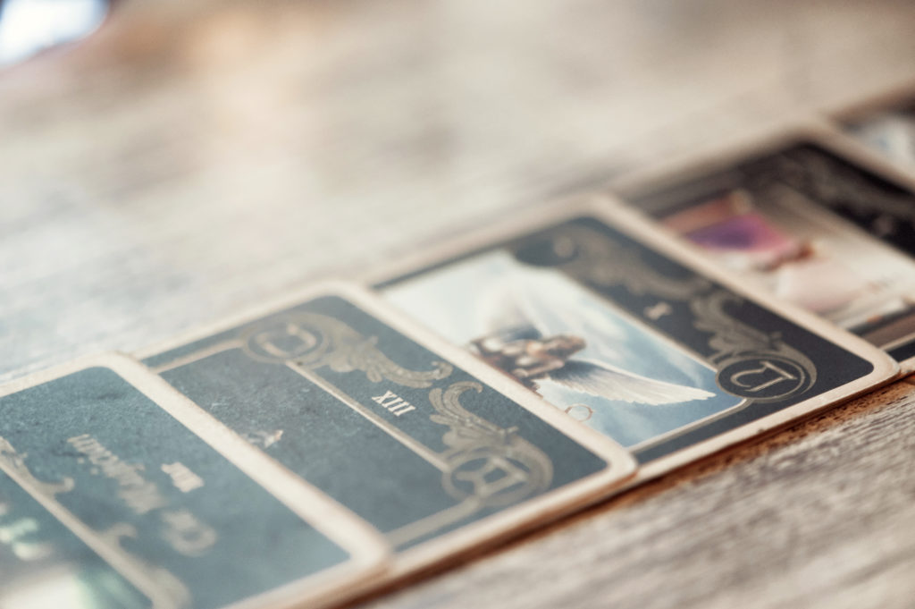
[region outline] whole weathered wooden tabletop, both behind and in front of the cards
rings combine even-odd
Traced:
[[[0,380],[915,79],[888,0],[124,1],[0,72]],[[915,386],[360,606],[915,607]]]

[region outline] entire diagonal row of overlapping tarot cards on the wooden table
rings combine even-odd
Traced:
[[[339,602],[909,372],[878,165],[821,121],[5,386],[0,607]]]

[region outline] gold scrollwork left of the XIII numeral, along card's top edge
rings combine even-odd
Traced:
[[[433,362],[431,370],[409,370],[395,364],[377,346],[378,337],[363,336],[346,323],[318,313],[298,312],[259,324],[242,337],[244,352],[271,364],[296,364],[334,372],[359,370],[378,383],[425,388],[451,375],[453,367]]]

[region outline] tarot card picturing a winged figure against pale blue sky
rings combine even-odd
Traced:
[[[628,447],[639,479],[896,375],[873,346],[737,288],[634,212],[594,199],[516,218],[376,287]]]

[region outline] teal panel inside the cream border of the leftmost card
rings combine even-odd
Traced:
[[[107,367],[0,397],[0,471],[3,591],[221,607],[349,558]]]

